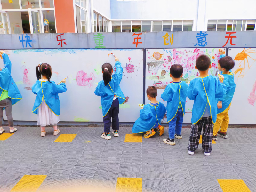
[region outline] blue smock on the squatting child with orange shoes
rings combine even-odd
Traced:
[[[132,133],[143,133],[152,129],[156,124],[161,125],[161,120],[164,117],[166,108],[163,103],[158,102],[158,105],[144,105],[140,110],[140,117],[132,127]]]

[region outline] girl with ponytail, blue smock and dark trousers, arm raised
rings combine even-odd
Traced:
[[[113,68],[111,64],[104,63],[102,65],[103,81],[98,83],[98,86],[94,91],[95,95],[101,96],[101,107],[104,122],[104,133],[101,134],[101,137],[106,140],[111,139],[109,134],[111,118],[113,129],[112,134],[114,134],[114,137],[119,136],[119,103],[123,104],[125,101],[124,94],[119,86],[123,76],[123,68],[118,58],[116,58],[115,61],[116,71],[113,75]]]

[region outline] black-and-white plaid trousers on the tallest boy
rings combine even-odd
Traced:
[[[191,125],[191,132],[188,140],[189,151],[195,151],[198,148],[202,127],[202,148],[204,149],[204,152],[207,153],[212,151],[213,123],[211,116],[203,117],[196,124]]]

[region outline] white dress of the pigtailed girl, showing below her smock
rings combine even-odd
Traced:
[[[40,79],[40,81],[45,81]],[[47,79],[46,79],[47,81]],[[55,125],[60,121],[59,116],[55,115],[52,110],[46,105],[44,99],[37,109],[37,125],[45,127],[46,125]]]

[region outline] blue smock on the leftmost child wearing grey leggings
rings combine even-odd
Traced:
[[[4,60],[4,68],[0,71],[0,95],[2,96],[4,91],[8,91],[8,97],[11,98],[12,105],[14,105],[22,99],[22,96],[11,76],[12,63],[8,55],[3,53],[2,57]]]

